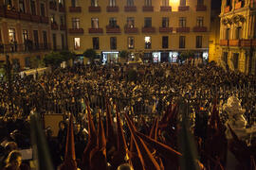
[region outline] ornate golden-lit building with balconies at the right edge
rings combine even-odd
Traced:
[[[229,68],[256,75],[256,2],[224,0],[220,14],[219,60]]]

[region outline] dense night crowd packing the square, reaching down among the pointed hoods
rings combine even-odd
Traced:
[[[136,143],[137,149],[133,149],[137,150],[135,151],[137,157],[134,156],[133,158],[143,160],[139,156],[141,151],[139,149],[142,148],[137,146],[139,145],[137,144],[139,143],[137,136],[140,135],[139,132],[150,135],[151,130],[153,130],[150,127],[155,127],[156,124],[154,123],[155,118],[159,120],[159,129],[155,130],[157,131],[155,136],[151,134],[152,137],[154,136],[155,141],[164,144],[167,150],[172,150],[171,148],[176,150],[174,151],[174,157],[176,158],[181,155],[179,153],[179,145],[174,140],[178,136],[178,130],[176,129],[178,121],[173,121],[170,118],[178,119],[178,116],[174,117],[173,114],[173,116],[167,115],[170,112],[174,113],[174,111],[177,111],[177,109],[174,110],[174,106],[176,106],[180,97],[185,98],[189,104],[189,117],[192,122],[190,129],[192,129],[192,133],[196,136],[197,149],[201,157],[199,161],[203,163],[202,165],[205,168],[207,167],[206,169],[213,169],[216,164],[215,161],[219,162],[217,169],[221,169],[221,167],[226,165],[225,159],[222,158],[223,155],[220,156],[218,153],[214,153],[214,157],[211,155],[211,161],[205,156],[205,149],[209,140],[207,126],[208,120],[211,119],[210,113],[212,113],[213,101],[216,100],[215,107],[219,110],[221,124],[224,124],[229,119],[226,112],[222,110],[222,106],[231,95],[236,95],[241,99],[242,107],[246,109],[247,127],[252,126],[255,121],[256,77],[231,72],[229,69],[225,70],[214,62],[197,66],[168,63],[76,65],[74,67],[58,68],[51,73],[36,76],[36,78],[32,76],[15,77],[13,81],[14,83],[11,83],[11,87],[9,87],[8,81],[3,81],[0,85],[2,167],[6,166],[6,160],[9,160],[7,158],[10,157],[11,151],[14,150],[15,152],[17,148],[30,147],[29,115],[33,112],[38,112],[42,116],[50,113],[64,115],[64,121],[59,125],[60,130],[57,138],[52,136],[50,127],[46,128],[46,140],[55,168],[65,160],[66,130],[70,115],[74,115],[75,151],[78,167],[81,169],[90,169],[90,167],[84,166],[84,160],[86,161],[84,159],[84,152],[88,145],[91,144],[90,140],[92,140],[92,129],[88,129],[89,121],[87,117],[90,111],[92,112],[95,125],[101,124],[101,121],[98,121],[96,117],[100,117],[99,111],[102,112],[102,124],[103,128],[106,129],[105,160],[108,162],[106,163],[109,166],[108,168],[112,169],[117,169],[120,164],[129,163],[130,161],[123,157],[123,160],[118,161],[119,163],[117,164],[113,160],[114,158],[117,159],[115,151],[119,151],[119,149],[118,144],[116,144],[117,142],[109,139],[110,135],[107,133],[109,128],[107,127],[108,119],[106,118],[106,112],[108,112],[109,106],[112,106],[112,108],[115,108],[114,105],[117,106],[116,108],[121,113],[120,119],[123,122],[125,143],[129,145],[130,152],[132,152],[130,149],[133,147],[133,140]],[[88,105],[86,106],[86,104]],[[173,109],[170,109],[170,106]],[[117,112],[112,110],[110,114],[113,113],[111,116],[114,117]],[[137,130],[132,130],[133,125],[128,123],[129,121],[127,117],[125,118],[124,112],[129,112],[132,115]],[[201,116],[202,114],[203,116]],[[201,119],[200,121],[198,121],[198,115]],[[118,124],[119,121],[115,118],[114,122]],[[100,127],[98,126],[97,128],[99,129]],[[218,127],[221,128],[219,123]],[[220,134],[223,134],[222,128],[218,130]],[[115,129],[114,131],[118,133],[117,131],[119,130]],[[161,131],[160,135],[158,135],[159,131]],[[139,136],[138,138],[142,139],[143,137]],[[221,136],[221,139],[224,139],[223,136]],[[129,141],[131,142],[129,143]],[[7,149],[9,148],[9,142],[15,142],[17,147],[10,150]],[[225,144],[225,141],[222,142]],[[156,146],[149,147],[152,153],[156,150],[155,155],[149,156],[151,161],[155,162],[155,166],[161,169],[163,167],[168,169],[169,162],[165,160],[166,157],[161,155],[161,151],[157,150]],[[144,165],[144,162],[141,161],[141,164]],[[243,161],[241,164],[246,164],[243,167],[251,167],[248,162]],[[135,164],[133,166],[135,169],[139,167]],[[126,166],[123,165],[123,167]],[[91,169],[95,168],[91,167]],[[175,166],[171,169],[175,169]]]

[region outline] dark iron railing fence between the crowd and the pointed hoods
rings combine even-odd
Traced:
[[[200,110],[200,108],[210,111],[215,99],[217,99],[217,104],[220,104],[220,112],[223,113],[222,104],[227,102],[229,96],[236,94],[241,100],[243,108],[246,109],[247,121],[249,124],[253,124],[256,121],[255,89],[234,89],[235,88],[229,88],[226,89],[225,92],[199,91],[199,93],[193,95],[192,93],[184,93],[183,97],[189,102],[191,113],[192,111]],[[111,103],[116,104],[121,111],[133,110],[133,113],[137,117],[139,115],[144,115],[145,117],[155,117],[162,115],[170,102],[175,103],[180,96],[180,93],[148,93],[134,97],[119,97],[102,95],[102,92],[90,92],[89,94],[83,93],[80,96],[74,97],[73,102],[72,97],[62,96],[61,98],[49,98],[46,96],[46,98],[39,101],[31,100],[31,105],[38,106],[41,109],[46,110],[46,112],[64,113],[67,110],[77,115],[78,113],[82,112],[82,99],[85,101],[85,98],[87,98],[90,108],[94,111],[99,109],[106,110],[105,101],[110,99]],[[223,116],[223,119],[225,119],[225,115],[221,116]]]

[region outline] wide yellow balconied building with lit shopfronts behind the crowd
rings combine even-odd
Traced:
[[[184,50],[208,57],[209,0],[66,1],[67,42],[78,55],[94,48],[106,62],[119,51],[149,61],[176,61]]]

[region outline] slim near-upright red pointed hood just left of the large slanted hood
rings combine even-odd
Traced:
[[[122,155],[126,155],[127,144],[124,138],[123,129],[121,125],[121,120],[119,117],[119,110],[118,107],[116,107],[116,114],[117,114],[117,125],[118,125],[118,151]]]

